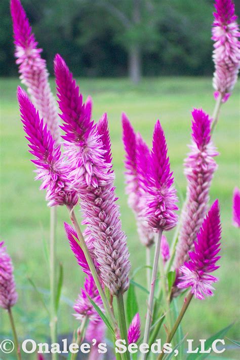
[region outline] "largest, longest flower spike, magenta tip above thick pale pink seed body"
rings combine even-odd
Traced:
[[[82,95],[64,60],[55,58],[59,106],[65,131],[64,147],[74,169],[74,188],[81,198],[84,224],[93,238],[101,278],[111,294],[129,286],[130,262],[126,235],[121,229],[114,193],[114,174],[109,163],[110,143],[106,115],[97,127],[83,104]],[[105,129],[105,130],[104,130]]]

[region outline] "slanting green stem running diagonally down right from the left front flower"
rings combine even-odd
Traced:
[[[116,334],[116,337],[117,337],[118,336],[118,327],[117,327],[117,324],[116,324],[116,320],[114,318],[114,315],[113,315],[113,313],[112,313],[112,311],[110,309],[109,303],[107,301],[106,295],[105,295],[105,293],[104,293],[104,291],[102,289],[102,286],[100,284],[98,274],[97,274],[96,268],[94,266],[93,260],[92,260],[92,258],[90,256],[90,253],[89,253],[88,247],[86,245],[84,236],[83,236],[82,231],[81,231],[81,229],[80,229],[80,227],[78,225],[78,222],[76,220],[76,216],[75,216],[75,213],[74,213],[73,209],[71,207],[67,207],[67,208],[68,208],[68,211],[69,211],[69,214],[70,214],[71,222],[72,222],[72,224],[73,224],[73,226],[74,226],[74,228],[76,230],[77,236],[78,236],[79,245],[81,246],[81,248],[82,248],[82,250],[84,252],[84,255],[85,255],[86,260],[88,262],[88,265],[89,265],[89,268],[91,270],[92,276],[94,278],[96,287],[98,289],[99,295],[101,296],[104,308],[106,310],[106,313],[108,314],[111,325],[112,325],[113,330],[114,330],[114,332]]]

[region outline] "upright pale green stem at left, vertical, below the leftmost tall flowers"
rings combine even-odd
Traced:
[[[52,344],[57,342],[57,312],[55,306],[56,299],[56,244],[55,244],[55,234],[56,234],[56,224],[57,224],[57,208],[52,207],[50,209],[50,332],[51,332],[51,341]],[[58,354],[52,354],[52,359],[57,360]]]

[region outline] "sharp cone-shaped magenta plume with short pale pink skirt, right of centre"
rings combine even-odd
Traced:
[[[171,230],[177,224],[177,196],[172,175],[164,131],[158,120],[153,132],[150,170],[144,180],[147,193],[142,212],[154,232]]]

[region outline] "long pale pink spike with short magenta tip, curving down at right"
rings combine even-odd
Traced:
[[[176,269],[188,261],[188,252],[194,248],[196,235],[207,212],[213,174],[217,169],[214,156],[218,153],[211,142],[211,119],[202,109],[194,109],[192,117],[191,151],[184,164],[187,200],[176,248]]]

